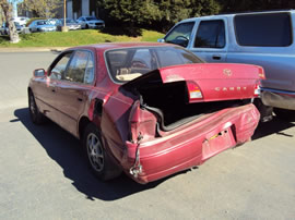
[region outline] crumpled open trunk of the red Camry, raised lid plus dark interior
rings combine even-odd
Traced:
[[[140,96],[141,108],[172,131],[203,114],[249,103],[263,70],[245,64],[189,64],[152,71],[122,85]]]

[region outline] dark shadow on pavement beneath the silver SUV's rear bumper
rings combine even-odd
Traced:
[[[266,122],[266,123],[260,123],[252,136],[252,140],[259,139],[261,137],[271,135],[271,134],[278,134],[278,135],[283,135],[286,137],[294,137],[291,134],[287,134],[284,132],[284,130],[294,127],[295,123],[283,121],[278,119],[276,117],[273,118],[272,121]]]

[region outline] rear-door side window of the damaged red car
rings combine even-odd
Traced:
[[[90,61],[90,62],[88,62]],[[64,80],[75,83],[91,84],[94,78],[92,54],[88,51],[75,51],[64,73]]]

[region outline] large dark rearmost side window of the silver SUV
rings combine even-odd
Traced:
[[[292,44],[290,13],[236,15],[235,30],[240,46],[286,47]]]

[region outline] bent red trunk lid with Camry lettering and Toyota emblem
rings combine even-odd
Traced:
[[[122,85],[140,93],[155,84],[186,83],[188,102],[249,99],[258,96],[261,66],[250,64],[198,63],[154,70]]]

